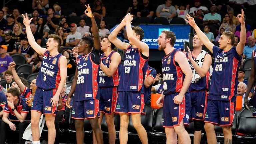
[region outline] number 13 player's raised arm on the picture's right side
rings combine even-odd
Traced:
[[[126,22],[126,31],[127,31],[127,36],[128,36],[128,40],[131,41],[133,43],[133,45],[137,46],[140,50],[141,53],[148,57],[149,56],[149,47],[146,43],[139,41],[134,35],[133,35],[133,31],[132,31],[132,27],[131,27],[131,21],[133,20],[132,15],[130,15],[130,13],[128,13],[125,16],[125,22]],[[139,35],[137,35],[139,36]]]

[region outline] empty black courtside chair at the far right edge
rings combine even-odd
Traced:
[[[244,135],[236,134],[237,142],[255,142],[256,140],[256,118],[252,116],[252,112],[255,111],[255,109],[253,109],[253,107],[249,108],[250,110],[243,109],[238,116],[237,133]]]

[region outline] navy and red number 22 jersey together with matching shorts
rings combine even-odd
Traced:
[[[242,56],[236,47],[223,51],[213,46],[215,57],[212,81],[206,107],[205,122],[220,126],[232,125],[237,94],[237,74]]]

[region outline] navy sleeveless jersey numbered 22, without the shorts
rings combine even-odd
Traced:
[[[208,99],[236,102],[237,74],[242,56],[236,52],[236,47],[223,51],[213,46],[215,62]]]

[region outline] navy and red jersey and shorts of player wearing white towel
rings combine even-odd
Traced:
[[[192,58],[196,61],[196,57],[192,53]],[[208,53],[205,54],[205,56]],[[188,59],[188,52],[186,52],[186,57]],[[202,59],[203,60],[203,59]],[[190,60],[188,60],[192,71],[195,71]],[[191,96],[191,117],[195,120],[204,120],[205,111],[207,106],[207,91],[208,91],[208,80],[210,78],[209,71],[206,76],[190,84],[188,90]]]

